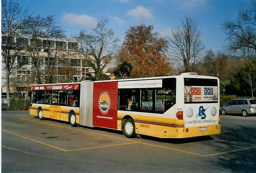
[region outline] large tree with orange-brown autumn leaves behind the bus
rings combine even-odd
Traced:
[[[153,29],[153,25],[141,24],[131,26],[125,32],[117,62],[132,64],[132,77],[166,76],[171,71],[165,55],[167,41]]]

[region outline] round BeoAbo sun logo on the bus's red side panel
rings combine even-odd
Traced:
[[[110,109],[109,93],[104,91],[99,96],[99,110],[102,114],[107,114]]]

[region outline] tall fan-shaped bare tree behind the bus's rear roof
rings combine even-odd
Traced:
[[[205,45],[201,41],[201,31],[194,19],[186,17],[181,24],[182,28],[178,26],[171,29],[170,56],[174,62],[182,66],[182,71],[193,72],[198,66]]]

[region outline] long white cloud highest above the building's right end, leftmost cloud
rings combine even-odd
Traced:
[[[86,14],[73,14],[66,13],[62,21],[68,21],[71,25],[84,25],[88,27],[94,27],[97,24],[97,19]]]

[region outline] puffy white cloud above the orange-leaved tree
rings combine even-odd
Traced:
[[[126,13],[126,16],[134,17],[136,20],[139,19],[152,19],[152,13],[144,6],[139,5],[135,9],[131,9]]]

